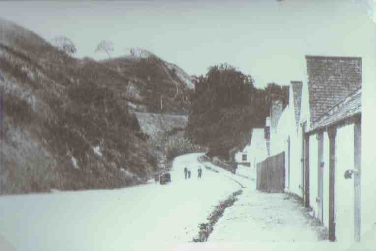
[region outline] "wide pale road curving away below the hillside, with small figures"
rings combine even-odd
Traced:
[[[140,250],[191,241],[213,206],[240,188],[206,169],[198,180],[197,156],[175,159],[170,185],[2,196],[0,236],[18,251]]]

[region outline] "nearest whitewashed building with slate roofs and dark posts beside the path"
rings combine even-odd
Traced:
[[[362,60],[306,56],[306,63],[307,82],[291,82],[271,132],[271,155],[285,151],[285,190],[303,198],[331,241],[350,246],[376,223],[375,171],[361,168]]]

